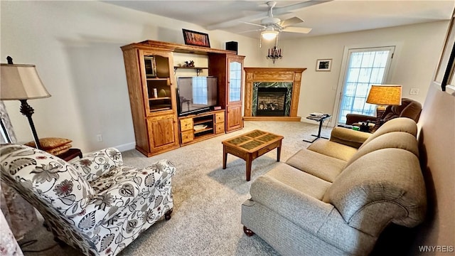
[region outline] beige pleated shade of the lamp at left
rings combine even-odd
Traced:
[[[50,97],[41,82],[35,65],[1,63],[0,99],[30,100]]]

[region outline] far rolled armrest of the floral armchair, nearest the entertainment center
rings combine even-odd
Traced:
[[[123,164],[122,154],[118,149],[107,148],[72,162],[76,170],[87,181],[95,181],[108,171]]]

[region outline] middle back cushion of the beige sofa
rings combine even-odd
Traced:
[[[365,146],[362,146],[348,161],[346,166],[353,163],[353,161],[364,156],[370,152],[373,152],[378,149],[405,149],[410,151],[415,156],[419,157],[419,147],[417,146],[417,139],[407,132],[389,132],[387,134],[382,134],[382,136],[376,137],[371,140]]]

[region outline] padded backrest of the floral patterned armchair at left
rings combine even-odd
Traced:
[[[22,183],[39,201],[63,215],[81,213],[95,195],[74,166],[52,154],[16,144],[1,146],[0,154],[1,178]]]

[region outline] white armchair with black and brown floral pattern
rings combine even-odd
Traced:
[[[109,148],[73,163],[18,144],[0,147],[1,179],[16,188],[57,240],[85,255],[117,255],[163,215],[171,218],[173,164],[124,166]]]

